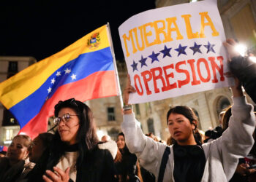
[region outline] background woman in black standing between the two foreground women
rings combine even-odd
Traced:
[[[118,170],[118,181],[143,181],[140,174],[138,159],[135,154],[131,154],[129,152],[129,149],[125,143],[123,132],[118,134],[116,143],[119,151],[121,152],[121,162],[116,162],[116,170]]]

